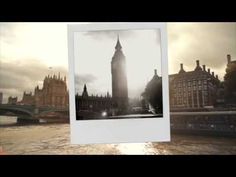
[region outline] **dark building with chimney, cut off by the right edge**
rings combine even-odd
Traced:
[[[224,76],[225,100],[227,104],[236,105],[236,60],[227,55],[227,67]]]

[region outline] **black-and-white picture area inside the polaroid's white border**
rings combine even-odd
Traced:
[[[160,31],[77,32],[76,120],[163,117]]]

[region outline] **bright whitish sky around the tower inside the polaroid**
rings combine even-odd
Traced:
[[[153,77],[154,69],[161,75],[159,30],[77,32],[74,56],[79,94],[84,84],[87,84],[90,95],[105,95],[107,91],[111,94],[111,60],[118,34],[126,57],[130,98],[140,97]]]

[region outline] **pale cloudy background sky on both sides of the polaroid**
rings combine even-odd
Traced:
[[[236,59],[236,23],[169,23],[168,49],[170,74],[179,71],[180,63],[190,71],[200,60],[222,79],[226,55]],[[9,95],[21,99],[24,90],[41,86],[47,74],[67,75],[67,59],[66,23],[0,23],[0,92],[5,102]]]

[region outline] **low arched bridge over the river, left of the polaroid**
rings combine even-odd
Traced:
[[[17,116],[18,120],[29,120],[38,122],[40,117],[47,116],[50,113],[61,113],[68,115],[69,108],[56,107],[37,107],[35,105],[12,105],[0,104],[0,115]]]

